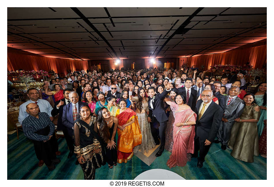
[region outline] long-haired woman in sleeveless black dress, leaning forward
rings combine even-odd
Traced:
[[[116,149],[116,131],[118,126],[118,118],[111,116],[110,112],[106,108],[101,108],[98,111],[98,123],[97,127],[99,129],[100,136],[104,141],[104,146],[106,148],[106,162],[110,169],[113,165],[117,165],[117,149]]]

